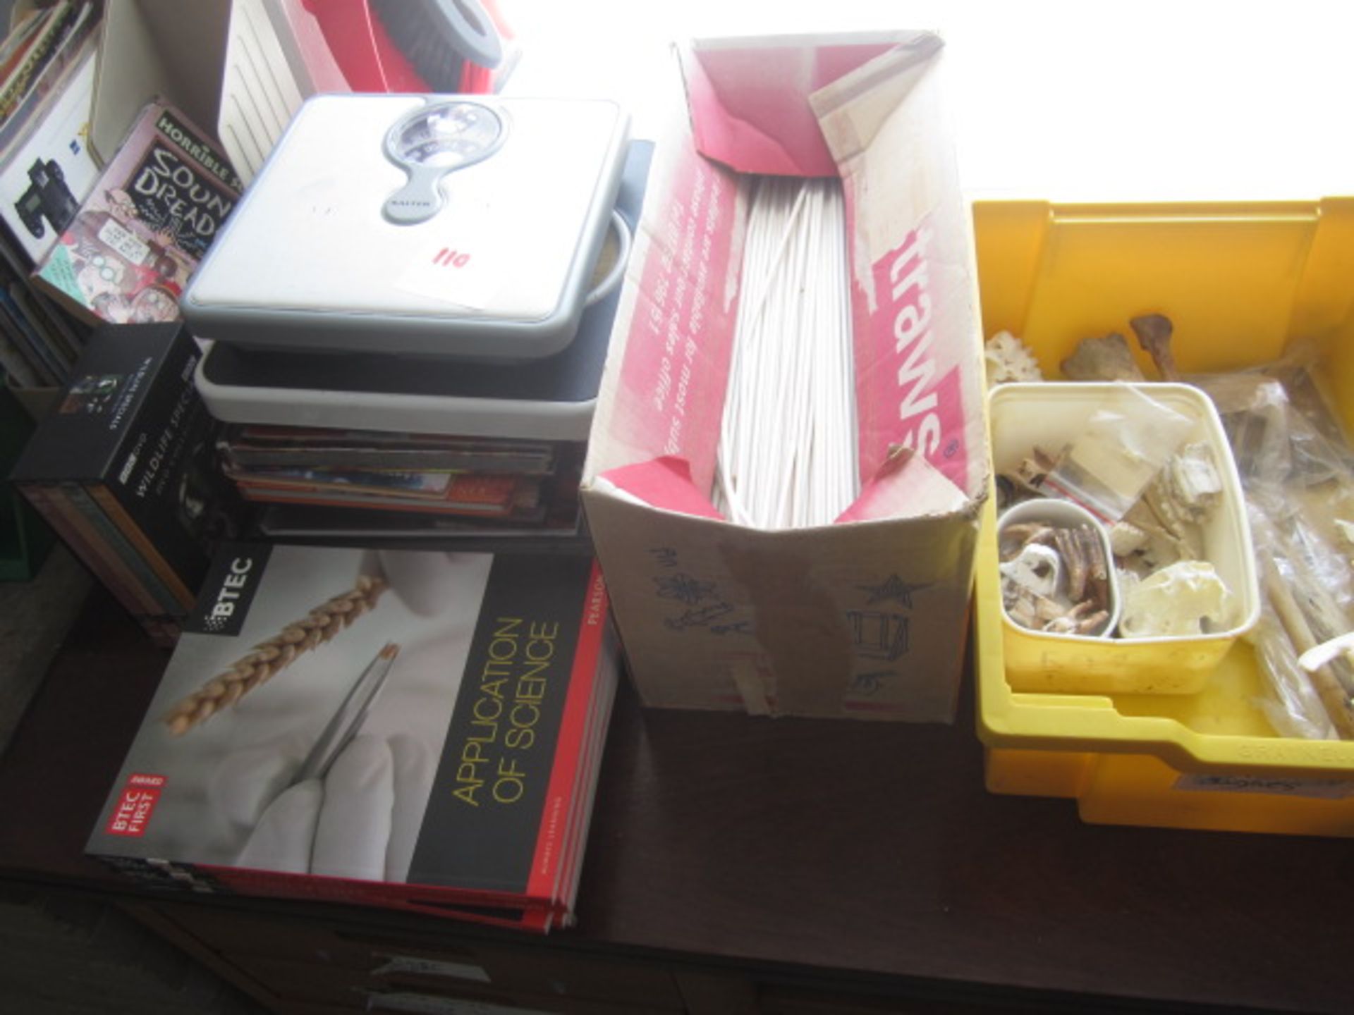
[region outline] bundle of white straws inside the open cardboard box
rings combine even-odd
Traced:
[[[715,480],[741,525],[829,525],[858,493],[845,221],[837,179],[757,181]]]

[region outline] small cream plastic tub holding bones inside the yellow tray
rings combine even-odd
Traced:
[[[1194,420],[1187,443],[1212,451],[1223,498],[1202,526],[1204,559],[1231,593],[1228,624],[1202,635],[1083,637],[1022,628],[1002,610],[1006,679],[1016,692],[1194,694],[1259,618],[1259,585],[1240,478],[1221,420],[1198,388],[1173,383],[1002,384],[990,395],[995,471],[1013,472],[1034,447],[1060,449],[1091,414],[1144,394]],[[1005,522],[1006,516],[1003,516]],[[1117,601],[1117,597],[1116,597]]]

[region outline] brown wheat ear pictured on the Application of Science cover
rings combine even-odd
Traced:
[[[275,673],[291,666],[298,655],[322,646],[372,609],[387,587],[385,578],[362,575],[348,591],[326,600],[301,620],[287,624],[267,641],[260,641],[227,670],[171,708],[164,716],[169,732],[181,736],[221,709],[234,705]]]

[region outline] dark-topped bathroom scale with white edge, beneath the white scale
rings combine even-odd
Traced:
[[[631,229],[653,150],[628,145],[613,207]],[[588,306],[574,341],[547,357],[479,363],[211,342],[196,386],[226,422],[588,440],[619,302],[616,287]]]

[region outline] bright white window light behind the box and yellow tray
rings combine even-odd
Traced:
[[[1136,0],[498,0],[513,95],[609,96],[658,137],[703,35],[934,28],[972,198],[1262,200],[1354,194],[1354,4]],[[668,97],[665,97],[668,96]]]

